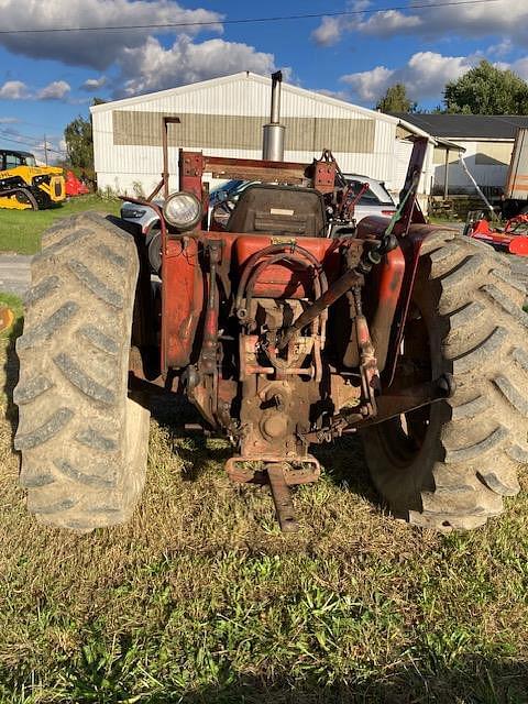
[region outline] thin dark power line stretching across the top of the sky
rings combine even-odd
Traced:
[[[367,10],[343,10],[339,12],[314,12],[308,14],[283,14],[267,18],[241,18],[239,20],[216,20],[201,22],[168,22],[165,24],[127,24],[116,26],[55,26],[46,30],[0,30],[0,34],[45,34],[51,32],[116,32],[127,30],[167,30],[186,26],[215,26],[216,24],[256,24],[264,22],[285,22],[289,20],[315,20],[321,18],[353,16],[359,14],[377,14],[380,12],[394,12],[396,10],[431,10],[438,8],[450,8],[469,4],[487,4],[499,2],[501,0],[458,0],[452,2],[424,2],[411,6],[394,6],[392,8],[367,9]]]

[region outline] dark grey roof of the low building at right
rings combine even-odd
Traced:
[[[518,114],[389,114],[435,138],[452,140],[514,140],[518,128],[528,128],[528,116]]]

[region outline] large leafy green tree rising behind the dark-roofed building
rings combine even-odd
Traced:
[[[447,112],[465,114],[526,114],[528,84],[514,72],[482,61],[446,86]]]

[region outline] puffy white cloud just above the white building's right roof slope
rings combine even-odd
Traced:
[[[405,66],[389,69],[376,66],[372,70],[342,76],[341,80],[352,89],[352,97],[363,102],[375,102],[386,89],[402,82],[411,100],[440,98],[446,84],[457,80],[475,64],[472,56],[442,56],[435,52],[418,52]]]

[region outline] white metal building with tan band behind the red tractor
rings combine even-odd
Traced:
[[[169,125],[170,187],[177,188],[178,148],[215,156],[262,157],[262,127],[270,120],[271,79],[249,72],[116,100],[90,108],[98,186],[132,195],[161,180],[162,117]],[[344,173],[385,180],[398,193],[411,152],[409,135],[427,135],[403,118],[283,84],[280,121],[285,161],[310,163],[332,151]],[[431,183],[428,152],[422,193]]]

